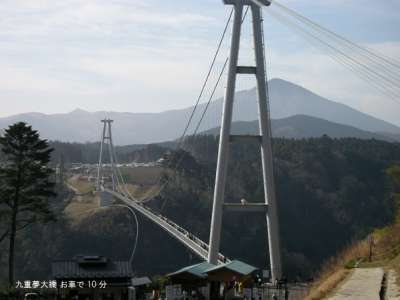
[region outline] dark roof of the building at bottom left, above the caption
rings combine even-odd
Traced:
[[[55,279],[131,278],[129,261],[112,261],[103,256],[78,256],[73,260],[54,261],[51,265]]]

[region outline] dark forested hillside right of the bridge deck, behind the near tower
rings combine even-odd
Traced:
[[[193,138],[185,147],[203,163],[196,164],[189,157],[182,163],[177,177],[162,193],[166,202],[161,203],[163,213],[207,239],[208,226],[200,224],[210,217],[216,140]],[[399,150],[399,145],[373,140],[325,137],[274,141],[283,256],[289,277],[311,276],[354,238],[390,222],[393,202],[386,193],[383,170],[399,161]],[[262,201],[258,161],[257,144],[233,144],[226,190],[230,202],[242,198]],[[267,250],[260,238],[265,230],[260,226],[264,224],[262,216],[249,219],[227,214],[224,224],[223,253],[264,265]],[[253,253],[232,247],[238,243],[246,249],[263,250]]]

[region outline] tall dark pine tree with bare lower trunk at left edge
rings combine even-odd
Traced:
[[[55,196],[48,166],[50,154],[46,140],[31,126],[11,125],[0,137],[5,160],[0,167],[0,216],[6,216],[9,240],[9,284],[14,284],[15,239],[17,232],[34,223],[54,220],[49,199]]]

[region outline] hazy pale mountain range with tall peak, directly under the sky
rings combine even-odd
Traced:
[[[364,131],[400,134],[400,128],[359,112],[349,106],[322,98],[293,83],[273,79],[269,82],[271,115],[273,119],[293,115],[308,115],[330,122],[353,126]],[[167,101],[167,100],[166,100]],[[205,104],[198,107],[193,120],[197,123]],[[119,113],[87,112],[75,110],[66,114],[45,115],[40,113],[20,114],[0,118],[0,129],[17,122],[25,121],[51,140],[70,142],[94,142],[100,138],[100,120],[105,116],[115,120],[114,141],[119,145],[145,144],[176,139],[188,120],[193,107],[170,110],[161,113]],[[200,131],[218,127],[222,112],[222,99],[211,103]],[[253,121],[257,119],[256,90],[250,89],[236,93],[234,121]]]

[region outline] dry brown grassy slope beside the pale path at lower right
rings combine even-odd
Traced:
[[[373,283],[379,285],[381,299],[400,298],[400,165],[388,168],[386,173],[395,202],[396,214],[392,224],[374,229],[366,238],[354,242],[331,258],[322,268],[306,300],[332,296],[340,292],[339,287],[344,283],[347,283],[345,293],[351,297],[353,290],[349,280],[354,277],[354,269],[361,269],[360,272],[383,270],[384,277],[378,277],[379,282]],[[359,294],[357,286],[352,288]]]

